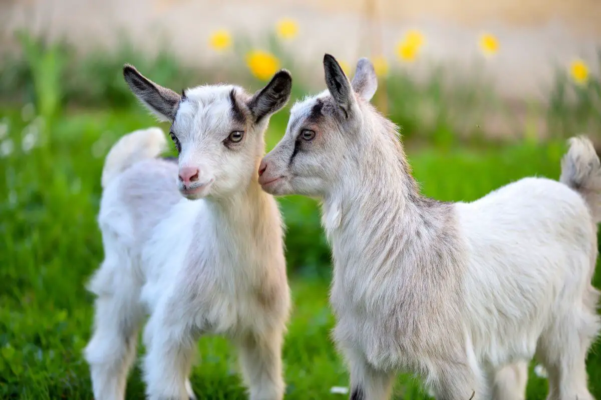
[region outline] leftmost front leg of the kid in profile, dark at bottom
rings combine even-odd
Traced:
[[[390,398],[395,372],[373,368],[356,350],[346,350],[345,356],[350,368],[350,400]]]

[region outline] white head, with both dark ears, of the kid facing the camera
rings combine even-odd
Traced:
[[[187,89],[179,95],[125,65],[133,94],[163,121],[179,153],[178,188],[190,200],[227,197],[248,186],[264,154],[269,117],[290,98],[292,79],[282,70],[252,96],[233,85]]]

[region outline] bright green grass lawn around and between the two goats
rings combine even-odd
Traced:
[[[31,110],[29,110],[31,111]],[[84,289],[102,260],[96,225],[103,157],[117,137],[153,125],[139,109],[59,113],[52,123],[26,109],[0,111],[2,138],[13,152],[0,158],[0,398],[90,399],[88,368],[81,357],[90,336],[93,298]],[[23,117],[25,121],[23,121]],[[287,113],[270,126],[269,147],[284,131]],[[2,125],[0,125],[2,126]],[[37,143],[22,149],[27,134]],[[31,136],[30,136],[31,137]],[[409,148],[424,193],[441,200],[474,200],[526,175],[557,178],[563,143]],[[329,250],[313,200],[281,199],[288,225],[287,258],[294,312],[285,339],[288,399],[344,398],[329,394],[347,386],[344,365],[329,339]],[[595,276],[597,285],[601,275]],[[236,357],[222,338],[204,338],[192,384],[201,399],[244,398]],[[601,357],[588,360],[591,390],[601,397]],[[143,398],[136,368],[127,398]],[[529,399],[543,399],[546,381],[532,377]],[[419,384],[400,377],[397,399],[425,399]]]

